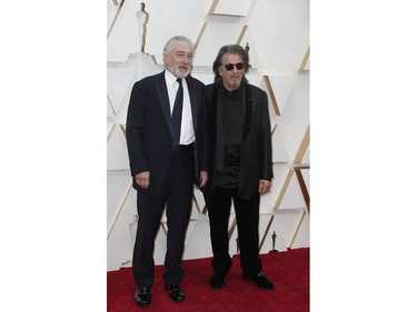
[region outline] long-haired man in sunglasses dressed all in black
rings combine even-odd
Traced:
[[[268,98],[248,83],[249,57],[238,44],[225,46],[214,62],[215,83],[207,85],[209,177],[203,188],[209,213],[214,274],[222,288],[231,266],[228,224],[231,202],[237,218],[244,278],[274,290],[259,259],[259,201],[272,179]]]

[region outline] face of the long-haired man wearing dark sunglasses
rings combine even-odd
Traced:
[[[245,73],[244,60],[239,54],[226,53],[221,59],[219,73],[222,78],[225,89],[229,91],[238,89]]]

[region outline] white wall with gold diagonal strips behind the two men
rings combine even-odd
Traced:
[[[119,2],[122,2],[120,6]],[[212,61],[224,44],[250,48],[249,82],[269,94],[274,147],[272,191],[261,198],[260,252],[309,246],[309,1],[308,0],[108,0],[108,271],[131,265],[136,191],[127,157],[125,122],[132,84],[163,69],[162,47],[176,34],[197,43],[193,77],[212,82]],[[145,50],[141,51],[146,23]],[[294,168],[301,168],[300,182]],[[306,198],[307,195],[307,198]],[[185,259],[211,256],[208,217],[199,191]],[[307,201],[306,201],[307,200]],[[234,214],[230,215],[232,224]],[[155,260],[165,256],[165,217]],[[230,252],[236,253],[235,230]]]

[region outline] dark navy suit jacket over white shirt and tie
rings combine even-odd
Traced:
[[[192,123],[196,134],[195,179],[207,171],[207,132],[203,130],[205,84],[188,76]],[[133,188],[156,194],[167,177],[171,154],[171,117],[165,71],[143,78],[133,84],[126,122],[126,138],[133,177]],[[206,155],[206,157],[205,157]],[[150,185],[142,190],[135,181],[137,173],[150,171]]]

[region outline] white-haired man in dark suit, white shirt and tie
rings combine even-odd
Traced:
[[[141,306],[151,302],[155,239],[165,207],[168,233],[162,278],[172,300],[186,296],[180,288],[181,260],[193,183],[202,188],[208,180],[205,85],[190,76],[193,57],[188,38],[171,38],[163,48],[166,70],[136,82],[131,91],[126,137],[138,191],[132,270],[135,300]]]

